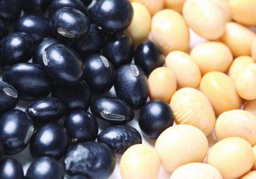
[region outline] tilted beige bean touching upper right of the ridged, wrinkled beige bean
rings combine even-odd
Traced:
[[[225,111],[241,108],[242,100],[235,91],[233,80],[225,73],[213,71],[205,74],[200,90],[207,96],[217,116]]]

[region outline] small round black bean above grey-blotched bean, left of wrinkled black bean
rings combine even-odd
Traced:
[[[95,141],[98,136],[98,123],[94,116],[85,110],[69,113],[64,121],[64,128],[74,143]]]

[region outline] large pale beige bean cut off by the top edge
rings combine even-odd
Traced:
[[[187,0],[183,16],[188,26],[205,39],[218,39],[225,31],[225,16],[210,0]]]

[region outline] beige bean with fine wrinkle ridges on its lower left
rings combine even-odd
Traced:
[[[182,88],[174,93],[170,106],[178,125],[195,126],[202,130],[206,136],[213,130],[215,125],[214,111],[210,101],[200,91],[194,88]]]

